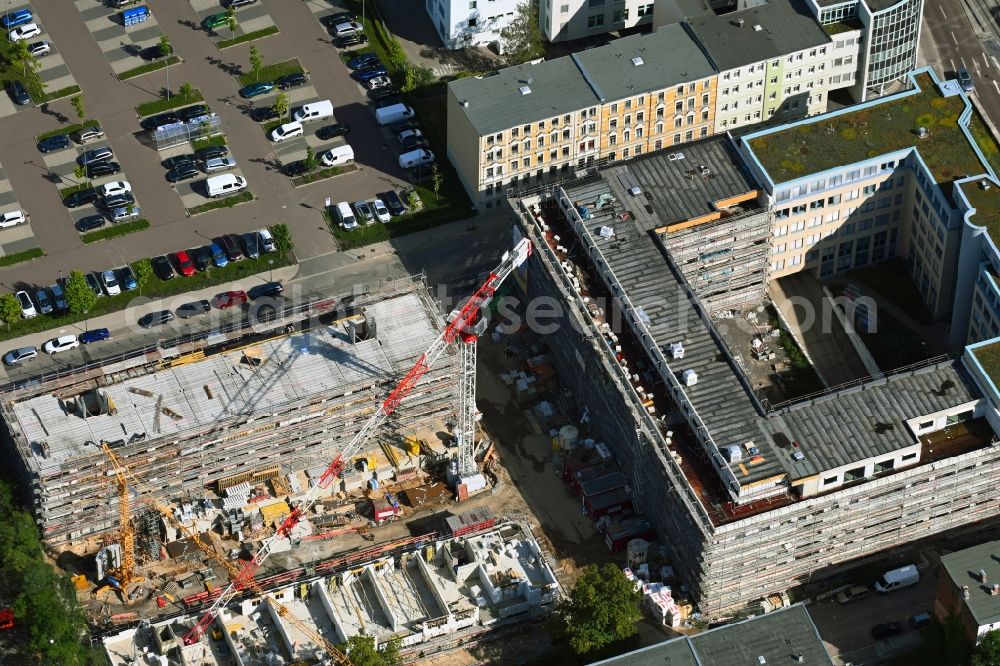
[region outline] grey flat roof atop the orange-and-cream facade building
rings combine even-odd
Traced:
[[[633,58],[643,64],[633,64]],[[459,109],[480,135],[486,135],[714,73],[694,38],[674,24],[537,65],[457,79],[448,86],[459,102],[468,102]],[[524,94],[525,87],[531,92]]]

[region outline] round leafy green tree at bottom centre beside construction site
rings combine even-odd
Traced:
[[[555,622],[577,654],[634,636],[642,619],[640,594],[613,563],[583,569],[569,598],[560,604]]]

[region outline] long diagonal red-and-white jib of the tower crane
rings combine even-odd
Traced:
[[[476,337],[485,328],[483,323],[482,309],[487,307],[497,288],[503,284],[504,280],[510,277],[518,266],[523,264],[531,254],[531,241],[522,238],[512,251],[505,252],[500,264],[494,268],[486,280],[469,297],[460,308],[456,309],[448,317],[447,325],[438,337],[430,344],[427,350],[420,355],[417,362],[399,383],[389,392],[385,400],[379,405],[375,413],[365,422],[361,430],[347,443],[347,445],[330,462],[319,481],[309,489],[299,502],[292,508],[291,513],[282,521],[274,534],[264,542],[260,549],[254,554],[249,562],[243,563],[243,568],[230,581],[212,606],[205,611],[205,614],[191,629],[184,635],[184,644],[192,645],[201,640],[202,635],[215,621],[216,615],[233,598],[247,587],[252,587],[253,577],[260,569],[261,565],[271,555],[275,545],[282,539],[290,539],[292,530],[299,524],[305,513],[319,500],[320,495],[326,491],[333,480],[343,471],[344,460],[351,460],[353,456],[368,441],[372,434],[385,422],[385,420],[399,408],[400,404],[410,394],[417,382],[427,373],[434,363],[441,357],[448,345],[468,338]],[[479,333],[477,333],[477,330]],[[464,338],[463,338],[464,336]],[[475,371],[475,367],[472,368]],[[473,407],[474,409],[474,407]],[[471,441],[469,442],[471,446]]]

